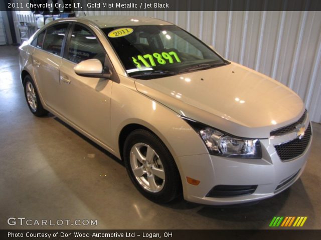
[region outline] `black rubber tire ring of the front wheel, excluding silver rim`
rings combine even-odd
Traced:
[[[165,184],[163,189],[159,192],[150,192],[145,190],[138,183],[131,170],[130,150],[131,147],[138,142],[143,142],[152,147],[162,161],[165,170]],[[155,134],[145,129],[137,129],[131,132],[125,141],[123,156],[128,175],[141,194],[148,199],[159,203],[166,203],[177,197],[180,192],[181,185],[177,166],[170,151],[167,149],[162,140],[159,139]]]

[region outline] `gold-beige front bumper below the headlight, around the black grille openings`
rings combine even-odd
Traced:
[[[307,122],[308,124],[308,122]],[[241,159],[210,154],[179,156],[184,198],[210,205],[239,204],[271,197],[292,185],[304,170],[311,147],[312,136],[305,151],[298,157],[281,161],[274,145],[295,138],[293,134],[260,139],[261,159]],[[187,183],[186,177],[200,181]],[[252,194],[209,197],[217,185],[257,185]]]

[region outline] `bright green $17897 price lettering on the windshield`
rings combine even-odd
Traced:
[[[131,59],[137,68],[141,68],[141,65],[145,67],[155,66],[156,62],[158,62],[161,65],[168,63],[172,64],[174,63],[174,61],[181,62],[180,57],[177,55],[175,51],[163,51],[161,53],[154,52],[152,54],[137,55],[136,57],[132,56]]]

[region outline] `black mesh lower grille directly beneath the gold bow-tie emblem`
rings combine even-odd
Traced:
[[[282,161],[301,155],[306,149],[311,137],[311,125],[309,124],[302,139],[298,137],[278,145],[274,145],[276,152]]]

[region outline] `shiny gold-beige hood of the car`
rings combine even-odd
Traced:
[[[231,64],[169,77],[135,79],[139,92],[182,116],[241,137],[266,138],[304,112],[301,98],[278,81]]]

